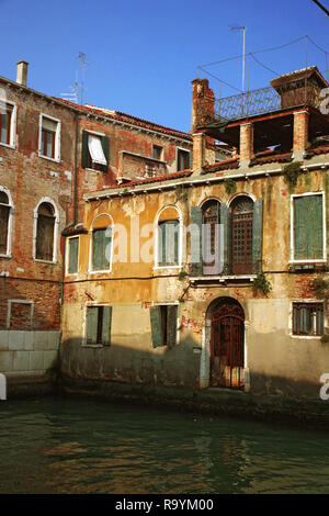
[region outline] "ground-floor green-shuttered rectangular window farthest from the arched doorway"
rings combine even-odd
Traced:
[[[87,338],[89,345],[111,345],[112,306],[87,306]]]

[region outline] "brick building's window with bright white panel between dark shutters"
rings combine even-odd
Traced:
[[[82,131],[81,167],[106,172],[109,168],[110,139],[106,136]]]

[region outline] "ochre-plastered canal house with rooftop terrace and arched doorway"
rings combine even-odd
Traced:
[[[192,169],[84,195],[64,282],[66,378],[318,399],[327,87],[311,67],[232,104],[196,79]],[[235,155],[216,161],[218,141]]]

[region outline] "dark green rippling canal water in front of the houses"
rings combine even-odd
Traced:
[[[329,435],[95,401],[0,402],[0,493],[328,493]]]

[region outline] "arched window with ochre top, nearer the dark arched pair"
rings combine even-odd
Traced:
[[[178,267],[181,261],[180,253],[180,215],[175,207],[167,206],[157,221],[158,267]]]

